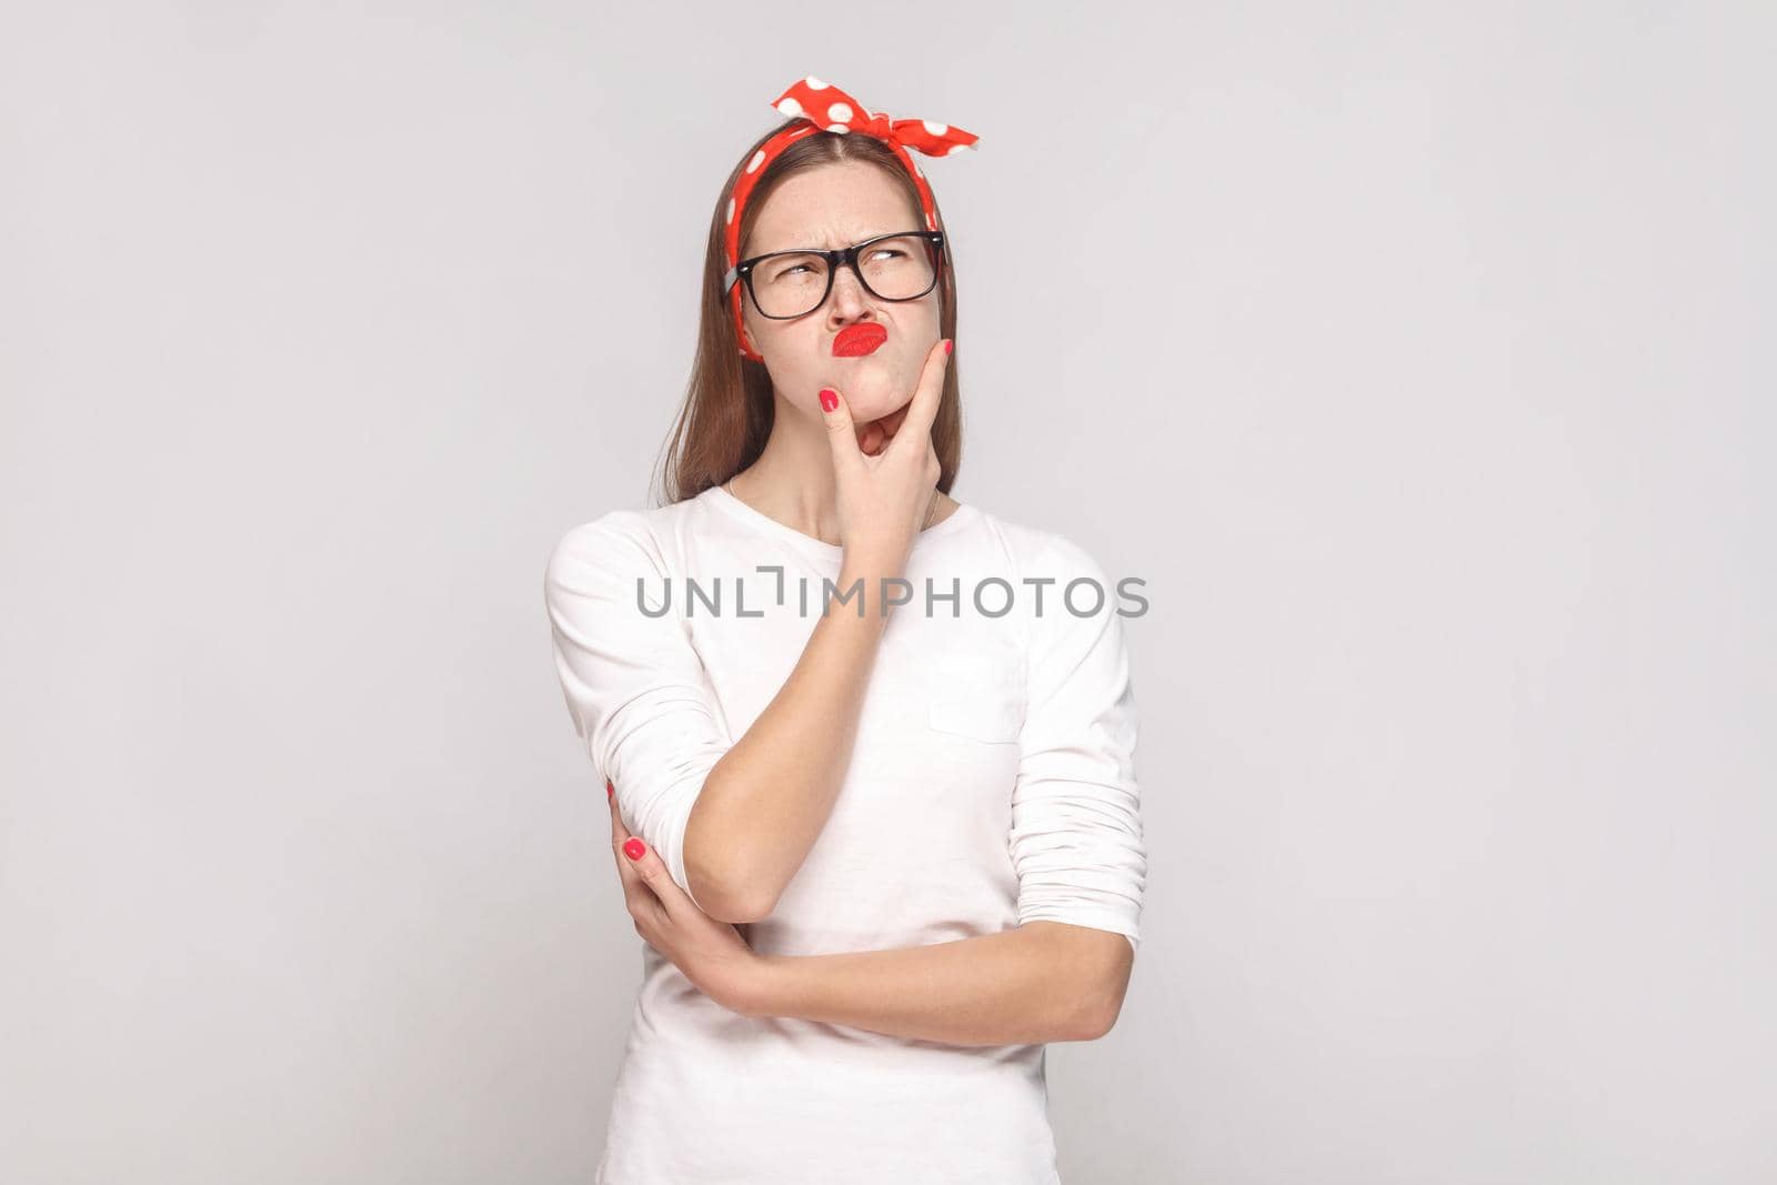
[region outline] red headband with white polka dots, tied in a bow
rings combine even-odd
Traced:
[[[753,192],[759,178],[764,176],[766,165],[777,160],[778,153],[801,137],[823,130],[873,135],[894,149],[894,155],[906,165],[913,185],[919,188],[919,204],[926,213],[926,229],[936,231],[938,211],[931,201],[931,187],[926,185],[926,174],[919,171],[919,165],[913,163],[913,156],[906,149],[917,147],[928,156],[954,156],[965,147],[974,149],[976,140],[981,139],[961,128],[929,119],[890,119],[887,112],[873,112],[833,84],[821,82],[814,75],[809,75],[801,82],[793,82],[771,107],[796,123],[785,124],[746,162],[741,179],[734,183],[734,195],[729,197],[727,213],[729,274],[723,282],[734,307],[734,336],[741,343],[741,357],[755,362],[762,362],[764,359],[746,348],[746,334],[741,330],[741,277],[734,268],[741,261],[741,211],[746,208],[746,197]],[[796,119],[798,115],[800,119]]]

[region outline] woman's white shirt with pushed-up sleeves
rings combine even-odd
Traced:
[[[721,487],[613,510],[549,556],[574,728],[624,824],[686,892],[704,778],[796,666],[842,560]],[[638,577],[650,611],[670,595],[657,616]],[[1137,595],[1072,540],[970,503],[915,537],[904,579],[833,810],[773,913],[741,927],[748,945],[881,950],[1038,919],[1139,945],[1146,849],[1118,613]],[[844,592],[830,613],[858,611]],[[1054,1185],[1045,1050],[748,1020],[641,943],[597,1181]]]

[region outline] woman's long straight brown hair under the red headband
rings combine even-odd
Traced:
[[[800,123],[800,121],[787,121]],[[679,407],[677,423],[663,453],[657,492],[661,505],[679,503],[697,497],[713,485],[721,485],[736,473],[753,464],[764,451],[771,435],[771,421],[777,407],[771,400],[771,375],[764,362],[741,357],[741,343],[736,336],[734,311],[729,293],[721,290],[721,275],[729,270],[723,251],[723,219],[734,183],[741,178],[741,167],[752,160],[753,153],[782,126],[761,135],[736,162],[727,185],[716,197],[716,210],[709,219],[709,245],[704,251],[704,300],[697,332],[697,357],[691,362],[691,382],[686,387],[684,403]],[[759,178],[746,208],[741,211],[741,254],[745,258],[746,240],[753,222],[764,208],[771,192],[787,178],[821,165],[860,160],[880,167],[906,194],[913,224],[924,226],[924,213],[919,204],[919,190],[906,165],[873,135],[817,131],[805,135],[785,147],[771,167]],[[938,227],[944,229],[944,211],[933,195],[933,210],[938,213]],[[743,281],[745,282],[745,281]],[[746,298],[745,293],[741,297]],[[944,274],[938,279],[938,332],[944,338],[956,338],[956,268],[952,266],[951,242],[944,242]],[[938,414],[931,421],[931,444],[938,453],[940,476],[938,489],[945,494],[956,481],[961,467],[963,433],[961,410],[958,407],[956,362],[944,373],[944,396],[938,402]]]

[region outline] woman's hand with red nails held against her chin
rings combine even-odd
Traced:
[[[835,393],[832,410],[823,402],[821,414],[826,418],[826,441],[833,448],[839,490],[839,540],[848,558],[899,574],[906,567],[913,538],[926,526],[944,474],[938,449],[931,442],[931,421],[944,398],[944,373],[951,362],[947,346],[949,341],[944,339],[931,346],[906,419],[874,457],[858,448],[846,393]]]

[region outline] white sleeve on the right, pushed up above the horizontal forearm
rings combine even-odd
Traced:
[[[1018,876],[1018,924],[1070,922],[1116,931],[1141,947],[1148,858],[1136,783],[1136,696],[1116,588],[1077,544],[1057,535],[1027,577],[1043,586],[1031,618],[1029,707],[1018,734],[1011,799],[1011,860]],[[1070,581],[1104,590],[1091,616],[1068,609]],[[1020,597],[1034,595],[1034,586]],[[1082,613],[1098,600],[1079,585]]]

